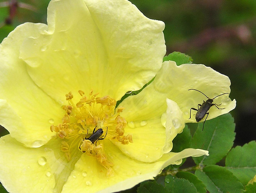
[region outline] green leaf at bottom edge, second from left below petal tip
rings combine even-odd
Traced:
[[[180,193],[180,192],[189,192],[197,193],[196,187],[194,184],[190,183],[186,179],[179,179],[172,175],[167,175],[164,180],[165,188],[168,189],[168,192]],[[154,192],[154,191],[152,191]]]

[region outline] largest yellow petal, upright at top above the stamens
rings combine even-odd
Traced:
[[[126,0],[53,0],[48,30],[28,38],[20,57],[35,83],[56,101],[93,89],[119,100],[160,69],[164,23]]]

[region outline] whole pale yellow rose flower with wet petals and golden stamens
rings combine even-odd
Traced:
[[[172,150],[189,110],[230,93],[204,65],[162,64],[164,23],[126,0],[52,0],[47,23],[22,24],[0,44],[0,181],[9,192],[115,192],[208,151]],[[116,108],[116,101],[129,96]],[[174,102],[175,101],[175,102]],[[235,108],[228,96],[216,98]],[[215,100],[214,100],[215,102]]]

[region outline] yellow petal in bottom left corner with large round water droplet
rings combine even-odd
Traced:
[[[68,162],[60,139],[39,148],[24,147],[10,135],[0,138],[0,181],[8,192],[61,192],[79,154]],[[77,151],[78,152],[78,151]]]

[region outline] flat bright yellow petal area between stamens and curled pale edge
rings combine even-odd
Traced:
[[[113,141],[127,156],[144,162],[158,160],[163,154],[166,135],[161,118],[143,120],[141,122],[129,122],[124,135],[132,134],[133,143],[123,145]]]

